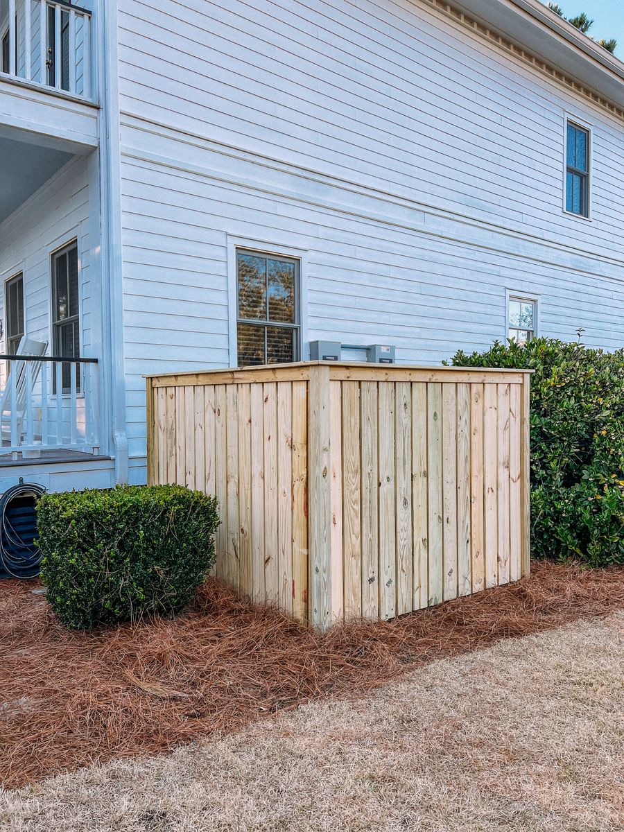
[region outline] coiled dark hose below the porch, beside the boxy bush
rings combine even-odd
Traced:
[[[39,574],[41,552],[35,546],[37,520],[25,498],[41,497],[38,483],[13,485],[0,498],[0,577],[27,580]]]

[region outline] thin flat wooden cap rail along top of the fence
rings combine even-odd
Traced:
[[[405,372],[428,372],[436,374],[444,373],[467,373],[467,374],[525,374],[535,372],[532,369],[517,369],[515,367],[454,367],[445,364],[369,364],[365,361],[296,361],[291,364],[255,364],[250,367],[206,367],[193,370],[173,370],[165,373],[148,373],[145,379],[176,379],[185,376],[199,375],[234,375],[234,374],[266,374],[270,372],[279,379],[280,372],[300,369],[302,372],[313,367],[328,367],[330,369],[343,370],[345,373],[357,370],[359,373],[369,372],[371,379],[379,374],[393,374]],[[303,376],[302,376],[303,377]]]

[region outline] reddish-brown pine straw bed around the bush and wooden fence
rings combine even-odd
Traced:
[[[321,636],[215,580],[175,620],[64,630],[31,583],[0,583],[0,783],[155,754],[315,696],[359,696],[405,668],[624,607],[624,568],[532,577],[392,622]]]

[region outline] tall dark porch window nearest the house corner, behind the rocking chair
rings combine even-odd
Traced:
[[[80,318],[78,311],[78,247],[71,243],[52,255],[52,349],[63,358],[80,358]],[[80,365],[76,384],[80,389]],[[69,393],[72,367],[62,365],[62,392]],[[56,392],[56,375],[54,378]]]

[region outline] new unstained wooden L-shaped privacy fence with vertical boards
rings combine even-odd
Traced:
[[[147,379],[148,479],[214,494],[216,574],[325,629],[529,568],[521,370],[309,362]]]

